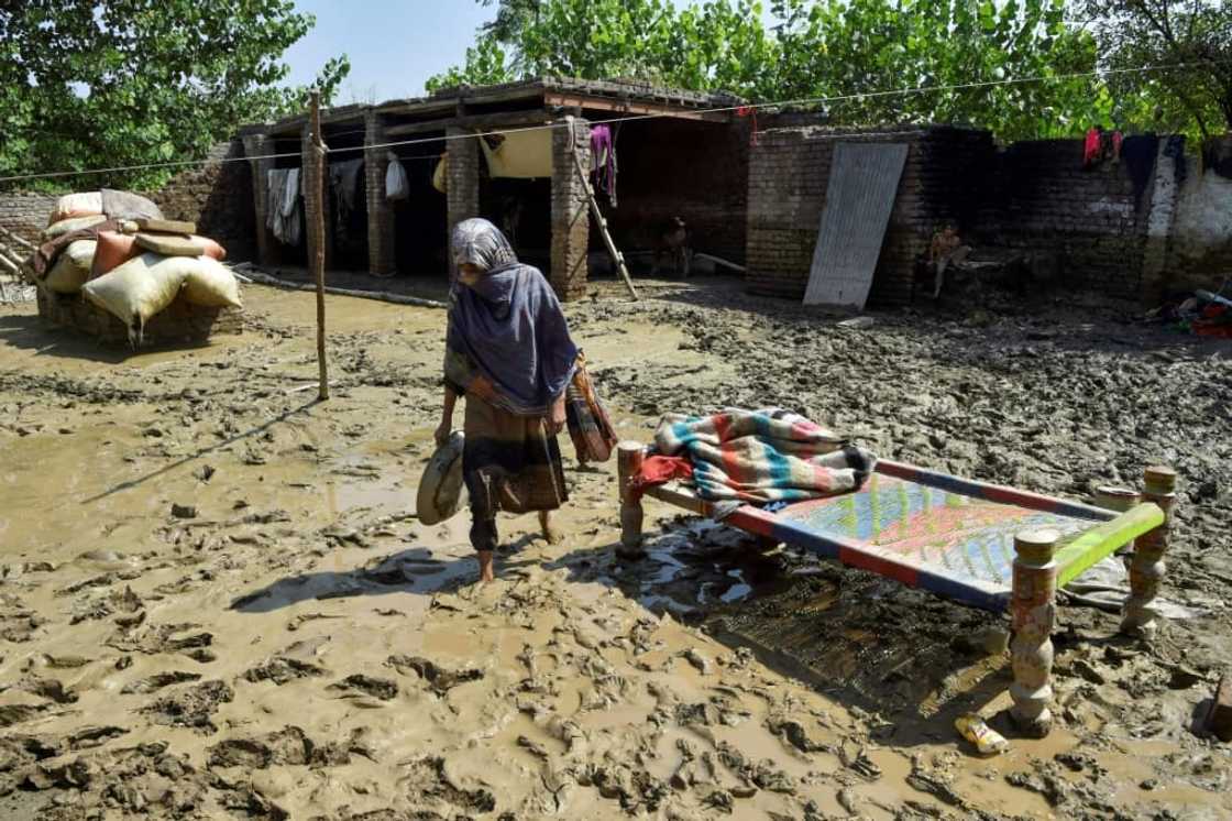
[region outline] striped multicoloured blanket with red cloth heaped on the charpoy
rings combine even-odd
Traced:
[[[721,519],[743,504],[790,504],[857,491],[876,464],[871,451],[781,408],[669,414],[632,487],[644,493],[689,481]]]

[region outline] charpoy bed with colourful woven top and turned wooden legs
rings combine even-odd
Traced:
[[[641,552],[643,513],[631,480],[644,456],[639,443],[620,445],[626,557]],[[1172,470],[1149,467],[1141,494],[1106,488],[1103,507],[1094,507],[883,460],[856,492],[777,509],[745,505],[723,523],[956,602],[1010,610],[1011,715],[1025,732],[1042,736],[1051,726],[1050,634],[1057,588],[1133,544],[1121,629],[1152,632],[1151,604],[1163,578],[1175,483]],[[713,514],[686,484],[643,492],[700,515]]]

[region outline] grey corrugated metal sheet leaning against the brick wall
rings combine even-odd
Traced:
[[[834,147],[804,304],[864,308],[906,161],[904,143]]]

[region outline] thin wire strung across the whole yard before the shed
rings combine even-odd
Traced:
[[[1170,63],[1161,65],[1140,65],[1130,68],[1119,69],[1095,69],[1093,71],[1074,71],[1069,74],[1052,74],[1052,75],[1035,75],[1026,78],[1007,78],[1002,80],[981,80],[976,83],[955,83],[950,85],[922,85],[922,86],[908,86],[902,89],[885,89],[881,91],[860,91],[856,94],[843,94],[828,97],[801,97],[797,100],[777,100],[770,102],[750,102],[739,104],[731,106],[718,106],[712,108],[690,108],[689,113],[695,116],[711,115],[711,113],[731,113],[740,111],[759,111],[764,108],[781,108],[785,106],[804,106],[804,105],[824,105],[830,102],[850,102],[853,100],[867,100],[867,99],[883,99],[892,96],[909,96],[915,94],[935,94],[941,91],[968,91],[975,89],[987,89],[1005,85],[1025,85],[1030,83],[1053,83],[1064,80],[1079,80],[1079,79],[1094,79],[1094,78],[1106,78],[1121,74],[1146,74],[1149,71],[1165,71],[1173,69],[1194,68],[1198,65],[1222,65],[1232,64],[1232,60],[1198,60],[1198,62],[1185,62],[1185,63]],[[644,115],[630,115],[623,117],[610,117],[606,120],[590,120],[588,121],[591,126],[602,126],[611,123],[625,123],[643,120],[659,120],[665,117],[673,117],[671,113],[644,113]],[[471,132],[464,134],[445,134],[444,137],[421,137],[418,139],[403,139],[388,143],[377,143],[375,145],[357,145],[354,148],[328,148],[326,152],[330,154],[345,154],[347,152],[360,152],[360,150],[375,150],[381,148],[395,148],[398,145],[421,145],[425,143],[448,143],[455,139],[474,139],[480,137],[493,137],[498,134],[509,134],[522,131],[543,131],[553,128],[564,128],[568,123],[564,122],[551,122],[538,126],[521,126],[521,127],[509,127],[500,128],[499,131],[484,131],[484,132]],[[357,133],[357,132],[355,132]],[[887,132],[898,133],[898,132]],[[848,139],[853,136],[875,136],[871,132],[856,133],[856,134],[834,134],[834,139]],[[41,180],[41,179],[53,179],[62,176],[84,176],[87,174],[116,174],[120,171],[145,171],[160,168],[184,168],[188,165],[211,165],[211,164],[224,164],[224,163],[241,163],[251,160],[262,159],[281,159],[285,157],[301,157],[299,152],[288,152],[280,154],[261,154],[257,157],[224,157],[219,159],[202,159],[202,160],[168,160],[164,163],[143,163],[139,165],[117,165],[113,168],[97,168],[97,169],[80,169],[74,171],[42,171],[37,174],[14,174],[9,176],[0,176],[0,182],[16,182],[21,180]]]

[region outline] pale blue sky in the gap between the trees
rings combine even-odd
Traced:
[[[461,63],[476,30],[495,15],[476,0],[296,0],[296,7],[315,15],[317,27],[287,49],[287,83],[312,83],[325,60],[345,52],[351,74],[339,102],[423,94],[424,80]]]

